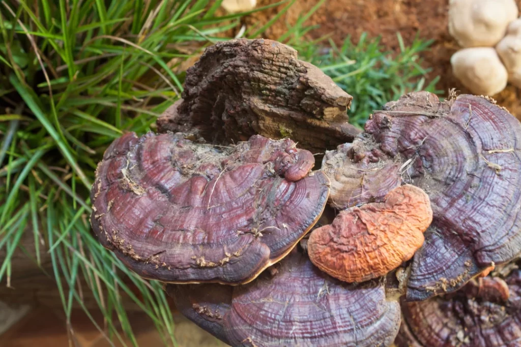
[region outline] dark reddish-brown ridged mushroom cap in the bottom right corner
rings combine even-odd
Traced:
[[[398,347],[503,347],[521,341],[521,271],[472,280],[451,295],[402,302]]]

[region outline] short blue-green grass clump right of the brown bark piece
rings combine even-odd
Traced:
[[[303,57],[331,76],[344,91],[353,96],[349,122],[363,127],[369,114],[379,110],[391,100],[414,91],[439,94],[436,89],[439,76],[428,85],[426,74],[430,69],[421,67],[420,55],[432,44],[416,37],[411,46],[405,46],[400,33],[400,52],[386,52],[380,38],[368,38],[363,33],[358,44],[347,37],[338,47],[329,40],[330,48],[302,43]],[[297,47],[301,42],[295,43]]]

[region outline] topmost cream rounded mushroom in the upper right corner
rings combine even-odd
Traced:
[[[493,47],[518,14],[515,0],[450,0],[449,33],[462,47]]]

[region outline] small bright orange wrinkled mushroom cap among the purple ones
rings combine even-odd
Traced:
[[[309,259],[346,282],[380,277],[413,257],[431,222],[429,196],[404,185],[391,190],[383,202],[344,210],[332,224],[313,230],[307,242]]]

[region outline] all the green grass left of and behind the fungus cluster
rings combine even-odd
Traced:
[[[295,1],[281,2],[277,16],[241,36],[261,36]],[[218,15],[221,2],[0,2],[0,284],[10,286],[13,254],[23,252],[54,278],[69,323],[75,305],[91,317],[82,300],[89,291],[105,317],[106,326],[92,319],[95,326],[108,340],[137,345],[124,296],[150,316],[165,344],[176,345],[162,284],[131,273],[92,236],[89,191],[107,146],[125,132],[150,130],[180,97],[185,61],[240,28],[244,14]],[[324,41],[306,42],[313,27],[305,21],[324,2],[279,41],[354,96],[352,122],[362,126],[373,109],[423,87],[417,55],[427,43],[392,59],[365,36],[327,52]],[[22,243],[27,233],[30,247]]]

